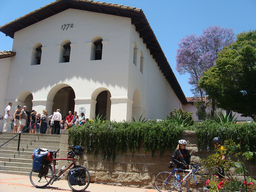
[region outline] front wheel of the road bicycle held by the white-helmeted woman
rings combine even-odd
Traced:
[[[201,192],[203,191],[203,186],[206,185],[206,178],[201,174],[195,174],[195,179],[193,175],[189,176],[186,182],[186,187],[188,190],[188,181],[190,181],[190,191],[191,192]]]

